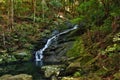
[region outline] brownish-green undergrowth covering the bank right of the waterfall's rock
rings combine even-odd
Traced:
[[[119,78],[117,73],[119,73],[120,35],[119,32],[111,34],[112,29],[108,25],[105,26],[105,24],[107,22],[100,27],[92,26],[90,30],[76,40],[73,48],[67,53],[69,57],[77,57],[73,60],[73,63],[80,63],[79,69],[87,72],[86,79],[102,80],[102,77],[106,78],[113,75],[114,79]],[[84,75],[86,75],[79,73],[81,72],[73,73],[73,76],[84,78]]]

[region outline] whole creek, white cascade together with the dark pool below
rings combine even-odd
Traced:
[[[49,48],[54,42],[56,42],[57,38],[61,35],[64,35],[72,30],[75,30],[78,28],[78,25],[75,25],[71,29],[67,29],[61,33],[55,34],[51,38],[49,38],[44,45],[43,48],[37,50],[35,52],[35,60],[34,61],[27,61],[27,62],[17,62],[17,63],[12,63],[12,64],[4,64],[0,65],[0,76],[4,74],[29,74],[32,75],[33,80],[50,80],[48,78],[44,77],[43,72],[41,71],[42,66],[47,66],[47,65],[56,65],[55,62],[50,63],[49,60],[48,62],[44,62],[44,53],[47,48]],[[49,51],[48,51],[49,52]],[[60,53],[61,54],[61,53]],[[59,55],[58,55],[59,56]],[[51,61],[54,61],[55,57],[50,57]],[[59,63],[57,63],[58,65]]]

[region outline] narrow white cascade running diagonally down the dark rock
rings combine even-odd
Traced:
[[[42,49],[36,51],[36,53],[35,53],[35,59],[36,59],[36,61],[41,61],[42,60],[42,58],[43,58],[43,52],[51,45],[51,43],[52,43],[53,40],[55,40],[60,35],[68,33],[68,32],[70,32],[70,31],[72,31],[74,29],[77,29],[77,28],[78,28],[78,25],[75,25],[73,28],[68,29],[68,30],[66,30],[64,32],[61,32],[59,34],[56,34],[55,36],[53,36],[50,39],[48,39],[47,43],[45,44],[45,46]]]

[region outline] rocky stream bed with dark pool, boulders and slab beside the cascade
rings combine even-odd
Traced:
[[[74,80],[72,78],[67,79],[64,76],[70,75],[74,69],[79,67],[76,64],[70,65],[71,63],[69,63],[69,59],[66,57],[67,51],[75,41],[76,33],[81,34],[80,29],[59,36],[45,50],[42,62],[26,61],[19,62],[19,64],[1,65],[0,80]],[[20,53],[18,56],[27,56],[24,54]]]

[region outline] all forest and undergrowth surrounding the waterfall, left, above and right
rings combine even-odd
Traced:
[[[38,40],[67,29],[64,22],[70,21],[84,24],[66,55],[79,56],[73,62],[81,65],[73,76],[87,72],[89,78],[119,80],[119,5],[119,0],[0,0],[0,62],[16,60],[13,55],[21,51],[30,55]]]

